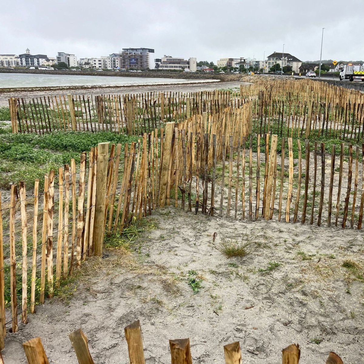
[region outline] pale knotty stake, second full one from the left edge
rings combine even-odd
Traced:
[[[21,242],[22,242],[22,289],[21,289],[21,322],[27,323],[27,295],[28,295],[28,258],[27,258],[27,210],[25,202],[27,196],[25,193],[24,181],[20,182],[20,219],[21,219]]]

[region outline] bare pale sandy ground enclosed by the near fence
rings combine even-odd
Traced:
[[[123,328],[137,319],[149,364],[170,363],[168,339],[185,337],[194,363],[223,363],[222,347],[233,341],[240,341],[242,363],[279,363],[291,343],[301,345],[302,364],[323,363],[331,350],[344,363],[363,363],[363,281],[342,266],[362,264],[362,233],[274,218],[207,218],[174,207],[153,213],[148,226],[135,253],[88,260],[73,297],[37,306],[29,324],[7,335],[5,363],[26,363],[21,343],[35,336],[50,363],[76,363],[67,336],[78,328],[95,363],[128,363]],[[215,243],[246,233],[258,244],[228,259],[214,248],[215,232]],[[196,294],[189,272],[201,279]]]

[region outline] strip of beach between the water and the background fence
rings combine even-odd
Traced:
[[[216,90],[219,88],[240,88],[240,85],[244,82],[230,81],[230,82],[201,82],[201,83],[174,83],[164,85],[143,85],[143,86],[125,86],[125,87],[85,87],[85,88],[64,88],[62,90],[27,90],[24,91],[9,91],[4,92],[0,90],[0,106],[8,106],[8,98],[35,98],[39,96],[51,96],[51,95],[101,95],[101,94],[137,94],[140,92],[150,91],[174,91],[174,92],[195,92],[205,90]]]

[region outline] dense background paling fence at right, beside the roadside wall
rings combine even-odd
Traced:
[[[259,80],[240,86],[240,97],[256,98],[257,134],[363,141],[364,94],[313,80]]]

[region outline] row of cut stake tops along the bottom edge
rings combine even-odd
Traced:
[[[124,328],[124,333],[128,345],[130,363],[145,364],[142,330],[139,320]],[[94,364],[88,349],[87,336],[83,331],[78,329],[71,332],[69,338],[79,364]],[[26,341],[23,343],[23,348],[29,364],[49,363],[40,337]],[[169,350],[171,364],[192,364],[190,339],[169,340]],[[241,364],[242,355],[239,341],[224,345],[223,351],[225,364]],[[300,357],[301,349],[298,344],[291,344],[282,349],[282,364],[298,364]],[[304,353],[302,357],[304,358]],[[343,364],[343,361],[339,355],[332,351],[328,354],[326,364]]]

